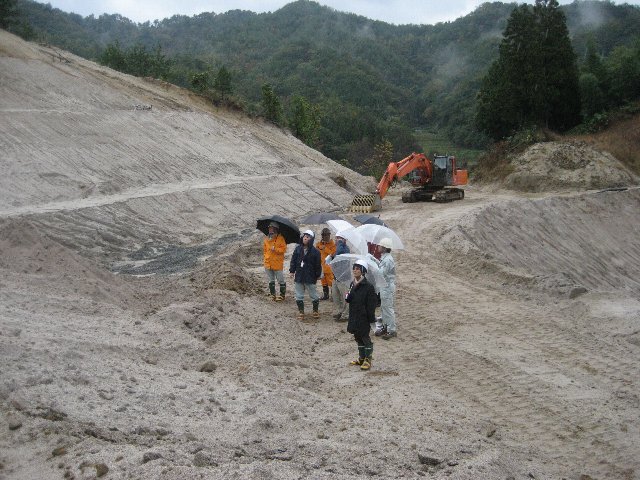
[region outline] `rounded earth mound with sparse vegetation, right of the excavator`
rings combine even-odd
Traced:
[[[585,142],[546,142],[529,147],[511,162],[505,187],[524,192],[594,190],[638,183],[638,178],[607,152]]]

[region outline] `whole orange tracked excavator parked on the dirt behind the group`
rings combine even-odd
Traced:
[[[399,162],[391,162],[385,170],[375,194],[356,195],[350,211],[370,213],[382,208],[382,199],[387,190],[407,177],[413,190],[402,194],[404,203],[451,202],[462,200],[464,190],[457,187],[467,184],[467,170],[456,168],[456,158],[450,155],[436,155],[433,160],[423,153],[412,153]]]

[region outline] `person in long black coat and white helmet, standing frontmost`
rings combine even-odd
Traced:
[[[371,368],[373,342],[371,341],[371,324],[376,320],[376,291],[366,277],[367,267],[362,260],[353,264],[353,281],[347,293],[349,304],[349,323],[347,332],[353,334],[358,344],[358,358],[351,365],[360,365],[361,370]]]

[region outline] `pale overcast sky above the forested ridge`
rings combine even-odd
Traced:
[[[40,0],[39,0],[40,1]],[[273,12],[292,0],[42,0],[65,12],[83,17],[119,13],[134,22],[162,20],[175,14],[197,15],[202,12],[224,13],[229,10]],[[356,13],[374,20],[397,25],[434,24],[462,17],[487,0],[320,0],[318,3],[341,12]],[[508,1],[508,0],[505,0]],[[519,1],[518,3],[523,3]],[[526,3],[533,3],[527,1]],[[560,0],[560,4],[571,0]],[[615,1],[640,5],[640,0]]]

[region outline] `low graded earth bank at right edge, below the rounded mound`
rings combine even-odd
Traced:
[[[441,246],[477,272],[545,291],[640,294],[640,190],[491,204],[447,230]],[[578,290],[576,290],[578,289]]]

